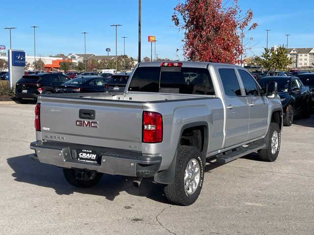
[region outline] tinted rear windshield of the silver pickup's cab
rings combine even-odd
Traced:
[[[129,91],[208,94],[215,90],[207,69],[181,67],[140,67],[131,78]]]

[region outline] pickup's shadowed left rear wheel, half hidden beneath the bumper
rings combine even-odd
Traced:
[[[103,173],[78,169],[63,169],[63,174],[70,185],[79,188],[93,187],[103,176]]]

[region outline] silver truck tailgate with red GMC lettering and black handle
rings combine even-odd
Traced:
[[[141,102],[52,95],[39,102],[42,140],[141,150]],[[93,111],[94,117],[87,117]]]

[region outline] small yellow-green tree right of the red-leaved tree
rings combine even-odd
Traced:
[[[282,45],[276,49],[264,48],[262,55],[254,58],[254,63],[260,64],[268,71],[280,71],[286,70],[292,60],[287,57],[287,49]]]

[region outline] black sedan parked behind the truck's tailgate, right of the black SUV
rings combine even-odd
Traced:
[[[105,78],[103,77],[76,77],[55,88],[55,93],[90,93],[104,92]]]

